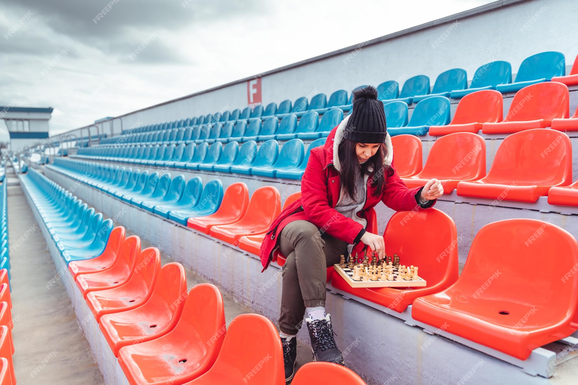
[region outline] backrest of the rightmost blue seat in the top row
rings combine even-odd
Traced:
[[[554,76],[564,76],[566,73],[566,59],[564,54],[557,51],[540,52],[524,59],[518,73],[516,82],[528,80],[552,79]]]

